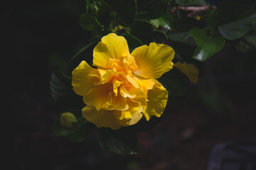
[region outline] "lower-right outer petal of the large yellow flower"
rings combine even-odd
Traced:
[[[149,120],[152,115],[159,118],[164,112],[168,100],[168,92],[164,86],[157,81],[153,89],[148,92],[148,100],[144,117],[146,120]]]

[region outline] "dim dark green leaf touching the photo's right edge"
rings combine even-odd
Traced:
[[[224,38],[228,40],[236,40],[242,38],[250,31],[250,26],[256,23],[256,17],[245,18],[232,23],[219,26],[219,31]]]

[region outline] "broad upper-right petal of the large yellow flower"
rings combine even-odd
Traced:
[[[173,67],[174,49],[168,45],[156,44],[152,42],[147,45],[137,47],[132,56],[137,62],[139,69],[133,72],[138,77],[145,79],[158,79],[162,74],[168,72]]]

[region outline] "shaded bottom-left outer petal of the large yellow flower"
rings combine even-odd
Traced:
[[[112,128],[113,130],[121,128],[121,125],[119,125],[116,118],[114,118],[113,111],[105,111],[102,109],[97,111],[94,106],[85,106],[85,108],[82,108],[82,115],[90,123],[94,123],[97,128],[105,127]]]

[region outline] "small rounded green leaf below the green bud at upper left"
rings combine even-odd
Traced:
[[[85,30],[93,30],[95,29],[95,27],[97,27],[97,23],[95,22],[95,19],[89,13],[82,13],[82,15],[80,16],[79,22],[80,22],[80,26]]]

